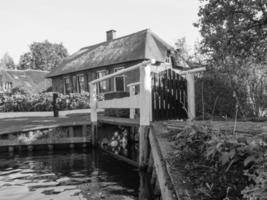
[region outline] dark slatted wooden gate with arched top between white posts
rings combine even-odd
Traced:
[[[187,81],[171,69],[152,73],[152,119],[187,119]]]

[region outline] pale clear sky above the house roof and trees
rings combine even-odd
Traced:
[[[18,63],[33,42],[63,43],[70,54],[106,40],[146,28],[171,45],[185,37],[189,46],[200,39],[198,0],[0,0],[0,57]]]

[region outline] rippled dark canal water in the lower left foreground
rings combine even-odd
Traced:
[[[101,150],[0,155],[0,200],[133,200],[139,181],[137,168]]]

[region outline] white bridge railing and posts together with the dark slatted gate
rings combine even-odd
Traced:
[[[138,71],[138,75],[133,71]],[[195,87],[194,73],[204,71],[205,68],[180,71],[173,69],[168,63],[156,64],[153,60],[144,61],[132,67],[122,69],[90,82],[91,120],[97,122],[97,109],[127,108],[130,109],[130,118],[134,118],[135,109],[140,110],[140,125],[149,125],[153,120],[173,118],[172,112],[184,109],[188,119],[195,117]],[[129,96],[114,99],[100,100],[98,84],[108,79],[124,76],[125,79],[137,77],[137,81],[127,81]],[[184,83],[184,87],[180,87]],[[180,85],[180,86],[179,86]],[[180,87],[180,88],[179,88]],[[178,89],[177,89],[178,88]],[[180,102],[180,103],[179,103]],[[178,105],[178,107],[177,107]],[[179,107],[180,106],[180,107]],[[178,109],[177,109],[178,108]],[[155,112],[167,113],[163,118],[155,117]],[[168,113],[171,113],[168,115]],[[182,113],[182,112],[181,112]]]

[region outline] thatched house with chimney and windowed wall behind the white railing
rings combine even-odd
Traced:
[[[61,93],[89,91],[88,83],[96,78],[127,68],[148,59],[165,62],[173,47],[149,29],[120,38],[116,31],[107,31],[106,41],[81,48],[47,75],[53,91]],[[136,74],[131,75],[136,78]],[[134,81],[134,80],[132,80]],[[102,84],[102,92],[127,89],[123,78]]]

